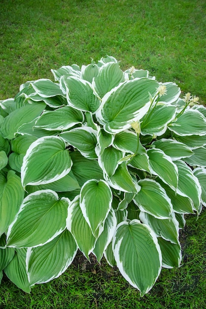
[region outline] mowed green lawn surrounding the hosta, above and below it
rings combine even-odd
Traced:
[[[123,70],[146,69],[206,103],[206,1],[0,0],[0,100],[27,80],[53,79],[51,68],[106,55]],[[0,308],[205,309],[206,211],[196,219],[189,216],[182,231],[182,266],[163,270],[143,298],[105,261],[85,268],[80,256],[31,294],[4,276]]]

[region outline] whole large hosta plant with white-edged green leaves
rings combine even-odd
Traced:
[[[0,279],[29,293],[79,249],[143,296],[206,206],[206,108],[111,56],[52,73],[0,101]]]

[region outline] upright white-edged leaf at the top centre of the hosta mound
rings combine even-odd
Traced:
[[[92,81],[92,86],[99,97],[102,98],[107,92],[123,81],[124,73],[120,69],[119,64],[110,62],[100,68],[99,74]]]

